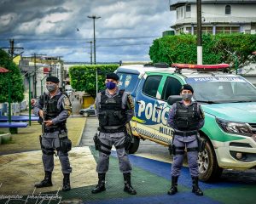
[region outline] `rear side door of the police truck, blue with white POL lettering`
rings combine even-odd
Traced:
[[[154,103],[161,79],[161,75],[145,74],[137,88],[135,99],[136,131],[141,136],[148,138],[154,136],[154,126],[157,124]]]

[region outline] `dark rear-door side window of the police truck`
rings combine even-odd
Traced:
[[[147,77],[143,85],[143,93],[155,98],[161,79],[161,76]]]

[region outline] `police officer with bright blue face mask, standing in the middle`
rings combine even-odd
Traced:
[[[99,150],[96,172],[98,173],[98,184],[91,190],[96,194],[106,190],[105,175],[108,172],[109,155],[112,145],[115,146],[119,158],[119,170],[124,175],[124,191],[135,195],[136,190],[131,186],[131,164],[128,158],[129,141],[125,124],[131,121],[134,105],[131,95],[124,89],[119,89],[117,84],[119,76],[109,73],[106,78],[106,90],[96,96],[96,116],[99,119],[99,133],[94,140],[96,149]]]

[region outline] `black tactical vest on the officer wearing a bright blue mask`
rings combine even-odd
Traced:
[[[101,102],[99,109],[99,125],[100,127],[105,126],[125,126],[126,112],[122,108],[122,96],[125,90],[119,90],[119,94],[113,98],[108,98],[106,91],[103,90],[101,93]]]

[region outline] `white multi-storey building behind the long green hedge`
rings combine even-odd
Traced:
[[[196,0],[171,0],[170,9],[176,34],[196,34]],[[203,33],[256,33],[255,0],[201,0],[201,15]]]

